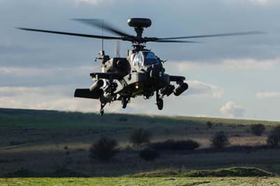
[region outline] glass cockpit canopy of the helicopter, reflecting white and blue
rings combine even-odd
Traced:
[[[133,55],[132,66],[143,69],[144,66],[160,63],[160,59],[150,51],[139,51]]]

